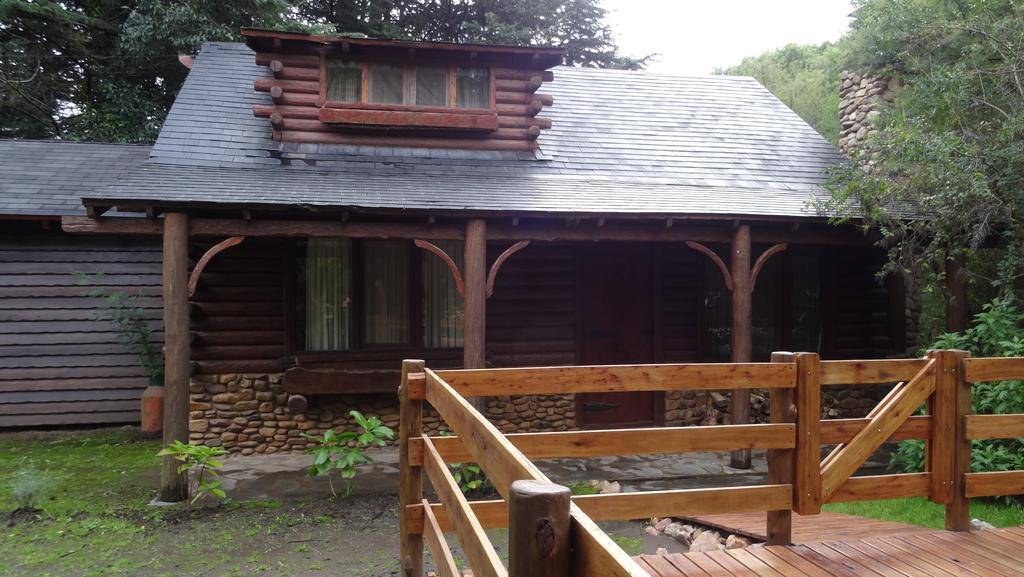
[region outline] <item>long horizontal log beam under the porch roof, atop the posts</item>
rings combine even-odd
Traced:
[[[136,217],[65,216],[61,228],[68,233],[100,235],[159,236],[163,224],[158,220]],[[459,224],[431,224],[429,222],[353,222],[344,220],[193,218],[191,236],[251,238],[316,238],[349,237],[368,239],[425,239],[462,240],[465,230]],[[677,220],[671,229],[654,223],[605,222],[598,225],[582,223],[579,226],[561,224],[534,224],[519,222],[493,223],[487,233],[492,241],[624,241],[624,242],[685,242],[729,243],[731,233],[724,223]],[[871,240],[853,229],[809,230],[759,226],[751,232],[755,244],[811,244],[870,246]]]

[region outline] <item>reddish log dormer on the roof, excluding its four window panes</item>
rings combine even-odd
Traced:
[[[561,61],[557,48],[524,48],[397,42],[364,38],[313,36],[244,30],[256,50],[256,64],[272,78],[254,81],[270,94],[272,105],[256,105],[253,113],[268,118],[273,138],[291,142],[419,147],[467,150],[532,151],[551,120],[538,116],[551,106],[538,93],[550,82],[550,70]],[[347,100],[328,94],[332,61],[343,61],[359,76],[357,95]],[[404,71],[403,104],[372,101],[373,67]],[[409,97],[419,70],[446,74],[447,106],[417,106]],[[485,71],[486,106],[457,98],[461,71]],[[413,88],[415,91],[415,88]],[[477,92],[479,93],[479,92]]]

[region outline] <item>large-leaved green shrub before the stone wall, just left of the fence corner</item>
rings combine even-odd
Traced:
[[[345,489],[342,497],[347,497],[352,492],[351,480],[355,477],[355,467],[373,461],[364,454],[362,449],[367,447],[383,447],[388,441],[394,439],[394,431],[390,427],[381,423],[378,417],[365,417],[358,411],[348,413],[356,424],[359,431],[346,430],[335,432],[333,428],[328,429],[322,436],[302,434],[304,439],[313,442],[309,452],[313,454],[313,464],[309,467],[309,477],[327,476],[328,484],[331,486],[331,494],[335,497],[338,492],[334,489],[334,481],[331,473],[338,470],[341,478],[345,480]]]

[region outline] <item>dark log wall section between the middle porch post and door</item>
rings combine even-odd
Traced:
[[[506,248],[490,244],[488,262]],[[505,262],[487,299],[488,366],[575,363],[579,250],[534,243]]]

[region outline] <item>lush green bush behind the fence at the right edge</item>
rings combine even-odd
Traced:
[[[1024,312],[1012,297],[996,298],[975,316],[963,333],[939,336],[932,348],[961,348],[974,357],[1024,356]],[[1024,382],[976,382],[971,387],[974,412],[980,415],[1024,413]],[[991,439],[972,443],[972,470],[1024,469],[1024,443],[1020,439]],[[890,466],[904,471],[925,466],[925,443],[904,441],[893,453]]]

